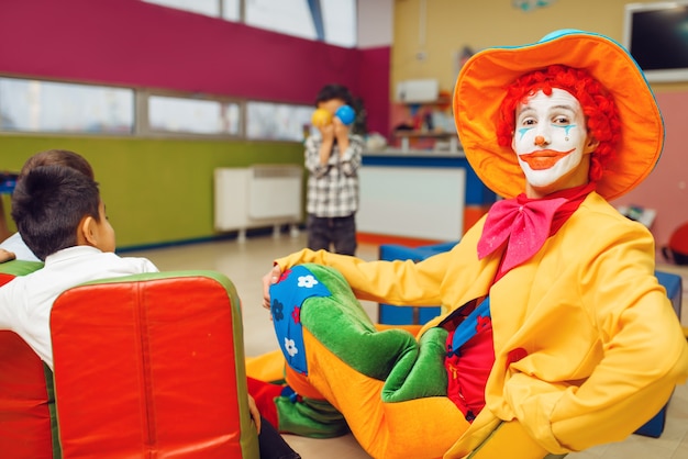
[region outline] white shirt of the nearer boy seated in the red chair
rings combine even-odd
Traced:
[[[60,293],[92,280],[157,271],[146,258],[120,257],[90,246],[65,248],[48,256],[42,269],[0,287],[0,329],[21,336],[52,369],[51,310]]]

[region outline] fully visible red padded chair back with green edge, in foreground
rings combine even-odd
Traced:
[[[229,280],[77,287],[55,301],[51,326],[65,458],[246,457],[256,437]]]

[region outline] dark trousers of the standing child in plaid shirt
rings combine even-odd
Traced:
[[[356,220],[349,216],[321,217],[308,215],[308,248],[354,255],[356,251]]]

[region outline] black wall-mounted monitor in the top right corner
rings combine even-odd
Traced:
[[[647,81],[688,81],[688,0],[626,4],[623,45]]]

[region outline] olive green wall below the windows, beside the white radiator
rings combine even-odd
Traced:
[[[4,135],[0,170],[19,171],[49,148],[77,152],[91,164],[120,248],[220,236],[213,228],[218,167],[303,164],[299,143]]]

